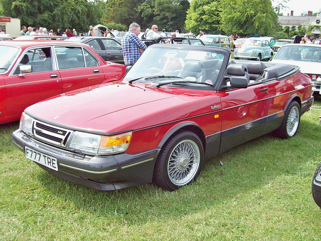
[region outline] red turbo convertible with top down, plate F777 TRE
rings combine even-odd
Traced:
[[[176,190],[230,148],[272,131],[293,137],[313,102],[299,67],[230,54],[151,45],[123,80],[29,106],[12,140],[46,171],[87,187]]]

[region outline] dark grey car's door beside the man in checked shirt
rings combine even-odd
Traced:
[[[100,39],[106,49],[106,61],[124,63],[124,57],[122,54],[121,44],[113,39]]]

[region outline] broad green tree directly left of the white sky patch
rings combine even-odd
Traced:
[[[224,0],[221,29],[228,34],[267,36],[278,25],[271,0]]]

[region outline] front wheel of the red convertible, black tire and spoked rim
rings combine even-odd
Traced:
[[[174,191],[194,182],[204,163],[204,149],[193,132],[182,131],[172,136],[159,153],[153,173],[153,183]]]

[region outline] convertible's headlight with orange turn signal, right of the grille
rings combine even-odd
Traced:
[[[126,151],[131,135],[131,132],[115,136],[74,132],[67,143],[67,148],[91,155],[116,154]]]

